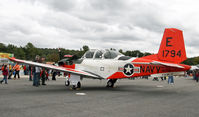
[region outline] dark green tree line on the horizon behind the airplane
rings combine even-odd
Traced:
[[[87,45],[84,45],[79,50],[69,50],[65,48],[37,48],[32,43],[27,43],[24,47],[0,43],[0,52],[12,53],[14,54],[15,58],[31,61],[34,60],[36,55],[44,57],[46,58],[46,61],[50,62],[57,62],[60,59],[63,59],[64,55],[76,55],[78,58],[80,58],[87,50],[89,50]],[[119,52],[130,57],[143,57],[151,55],[149,52],[141,52],[139,50],[127,50],[124,52],[122,49],[120,49]],[[183,63],[187,65],[199,64],[199,57],[188,58]]]

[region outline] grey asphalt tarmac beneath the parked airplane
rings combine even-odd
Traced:
[[[114,88],[106,88],[106,80],[84,79],[74,91],[61,77],[33,87],[22,76],[0,84],[0,117],[198,117],[199,83],[174,79],[173,85],[123,79]]]

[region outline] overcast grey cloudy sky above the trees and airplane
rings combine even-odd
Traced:
[[[198,6],[197,0],[1,0],[0,42],[157,53],[164,29],[178,28],[187,56],[199,56]]]

